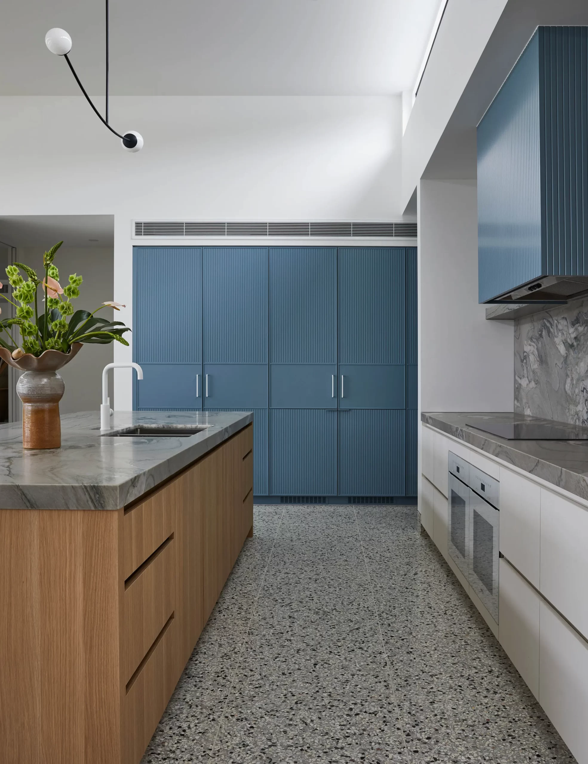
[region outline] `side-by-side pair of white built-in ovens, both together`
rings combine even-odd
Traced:
[[[447,552],[499,620],[499,481],[449,452]]]

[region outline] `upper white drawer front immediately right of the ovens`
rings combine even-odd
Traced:
[[[537,588],[540,528],[541,487],[501,467],[499,549]]]

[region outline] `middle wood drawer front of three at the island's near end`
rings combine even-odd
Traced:
[[[122,677],[126,683],[147,655],[175,608],[174,536],[125,581]]]

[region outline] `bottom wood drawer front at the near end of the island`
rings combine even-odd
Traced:
[[[176,629],[171,616],[123,691],[122,764],[139,764],[170,701],[177,679]]]

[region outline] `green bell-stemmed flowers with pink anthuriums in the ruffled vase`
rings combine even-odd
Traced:
[[[61,287],[59,270],[54,265],[55,253],[61,244],[63,241],[45,252],[43,256],[45,277],[42,282],[33,268],[23,263],[15,263],[6,268],[8,281],[12,286],[12,299],[6,295],[2,296],[8,300],[8,303],[15,306],[16,316],[13,319],[0,321],[0,347],[10,351],[15,360],[28,353],[38,358],[46,350],[69,353],[74,342],[108,345],[115,340],[122,345],[128,345],[122,336],[124,332],[131,331],[128,326],[121,321],[109,321],[95,315],[105,306],[115,310],[125,306],[107,302],[102,303],[93,312],[73,309],[72,300],[80,296],[82,277],[72,274],[70,283],[64,288]],[[24,280],[21,271],[28,276],[28,280]],[[44,311],[41,312],[41,316],[37,305],[39,286],[44,292]],[[14,326],[20,329],[20,347],[12,335]]]

